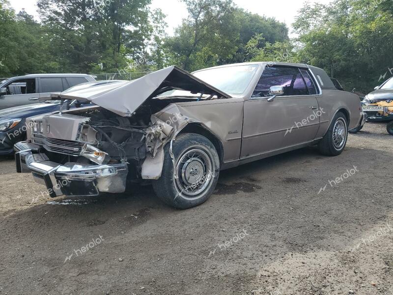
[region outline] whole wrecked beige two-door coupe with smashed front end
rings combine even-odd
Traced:
[[[51,99],[62,101],[60,110],[29,118],[27,141],[14,147],[18,172],[32,172],[51,197],[123,193],[149,180],[159,198],[183,209],[210,197],[221,170],[312,145],[336,156],[348,129],[364,124],[359,97],[306,64],[193,74],[171,66]],[[70,101],[90,105],[67,110]]]

